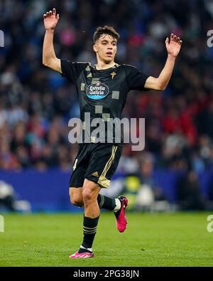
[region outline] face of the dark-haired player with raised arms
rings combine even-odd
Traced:
[[[97,53],[97,58],[110,63],[114,61],[117,51],[117,41],[109,34],[102,34],[93,46],[94,51]]]

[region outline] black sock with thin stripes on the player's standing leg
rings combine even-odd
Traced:
[[[84,239],[78,253],[92,252],[92,243],[97,231],[98,221],[99,221],[99,216],[97,218],[88,218],[84,216],[84,225],[83,225]]]

